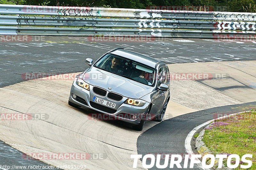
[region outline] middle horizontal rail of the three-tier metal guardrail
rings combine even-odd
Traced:
[[[255,22],[227,21],[187,21],[159,19],[120,18],[75,18],[75,17],[35,17],[0,15],[0,25],[9,26],[84,26],[111,28],[168,28],[196,30],[242,30],[255,31]],[[226,26],[227,25],[227,26]]]

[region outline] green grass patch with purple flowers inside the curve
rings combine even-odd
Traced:
[[[244,154],[252,154],[249,169],[256,169],[256,110],[215,120],[205,128],[203,141],[214,155],[237,154],[241,160]],[[226,160],[223,163],[227,166]],[[241,164],[247,165],[240,161]],[[240,169],[240,165],[236,169]]]

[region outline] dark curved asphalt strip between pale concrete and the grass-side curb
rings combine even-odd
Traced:
[[[230,115],[234,113],[239,113],[243,111],[251,110],[250,105],[255,106],[256,102],[243,103],[237,105],[221,106],[214,107],[206,110],[200,110],[197,112],[188,113],[185,115],[180,115],[168,120],[165,120],[152,128],[148,129],[142,133],[137,140],[137,150],[138,154],[146,155],[153,154],[156,157],[156,154],[161,154],[162,159],[160,159],[160,165],[164,164],[164,155],[165,154],[187,154],[185,150],[185,139],[188,133],[194,129],[196,126],[203,124],[204,122],[216,119],[220,116]],[[244,109],[240,109],[243,108]],[[199,130],[200,132],[201,130]],[[194,138],[194,137],[193,137]],[[194,138],[196,140],[196,138]],[[196,153],[196,148],[192,144],[192,149]],[[147,148],[147,149],[145,149]],[[169,159],[170,161],[170,159]],[[147,165],[150,164],[150,159],[147,160]],[[180,164],[182,167],[184,165],[184,160]],[[190,161],[188,161],[188,167]],[[167,167],[169,167],[168,164]],[[200,169],[195,164],[195,169]],[[154,166],[151,169],[158,169]],[[169,169],[169,168],[167,168]],[[174,166],[172,169],[180,169],[177,166]]]

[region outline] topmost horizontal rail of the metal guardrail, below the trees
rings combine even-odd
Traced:
[[[97,7],[0,5],[0,14],[84,16],[113,18],[165,18],[192,20],[255,21],[256,13],[142,10]]]

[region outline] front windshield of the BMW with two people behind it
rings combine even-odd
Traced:
[[[154,85],[155,69],[127,58],[107,54],[94,66],[144,85]]]

